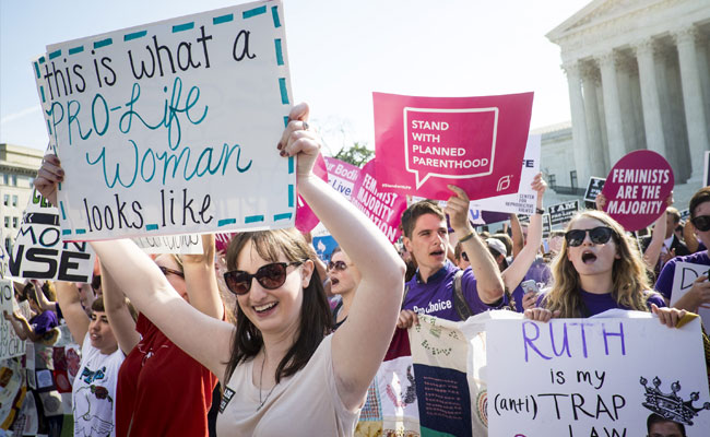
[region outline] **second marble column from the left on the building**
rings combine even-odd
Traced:
[[[604,118],[606,121],[606,141],[608,143],[610,164],[614,166],[626,154],[624,125],[616,80],[614,51],[597,57],[602,71],[602,90],[604,92]]]

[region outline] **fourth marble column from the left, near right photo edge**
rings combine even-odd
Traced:
[[[683,105],[685,107],[685,121],[688,129],[690,163],[693,165],[690,180],[694,181],[702,178],[705,170],[705,151],[710,146],[708,143],[708,127],[706,126],[700,71],[696,52],[696,35],[697,29],[695,27],[686,27],[673,34],[678,48]]]

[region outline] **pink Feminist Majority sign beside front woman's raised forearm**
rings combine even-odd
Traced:
[[[353,186],[351,202],[367,215],[375,225],[394,243],[400,238],[402,213],[406,210],[406,198],[395,192],[382,191],[376,176],[376,162],[370,160]]]

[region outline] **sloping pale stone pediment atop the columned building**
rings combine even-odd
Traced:
[[[602,25],[619,16],[643,10],[659,0],[594,0],[551,31],[546,36],[553,43],[578,31]]]

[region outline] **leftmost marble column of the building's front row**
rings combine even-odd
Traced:
[[[587,141],[587,117],[584,114],[584,99],[582,97],[581,76],[577,61],[563,66],[567,73],[569,86],[569,105],[572,115],[572,145],[575,152],[575,169],[577,169],[577,184],[582,187],[589,180],[589,144]]]

